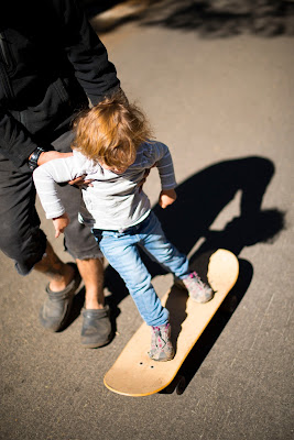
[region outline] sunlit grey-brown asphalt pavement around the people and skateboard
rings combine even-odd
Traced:
[[[106,292],[116,337],[85,350],[83,286],[67,328],[46,332],[37,317],[45,279],[20,277],[1,254],[0,439],[293,439],[294,40],[248,29],[207,35],[168,23],[131,21],[101,38],[129,99],[174,157],[173,210],[156,206],[156,169],[145,191],[190,258],[217,248],[237,254],[236,309],[220,311],[194,348],[182,395],[121,396],[105,387],[104,375],[141,318],[113,272],[106,270]],[[153,275],[163,296],[172,277],[156,268]]]

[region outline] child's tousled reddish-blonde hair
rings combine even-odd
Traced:
[[[81,112],[74,122],[72,147],[110,167],[127,168],[138,147],[152,136],[144,113],[122,92]]]

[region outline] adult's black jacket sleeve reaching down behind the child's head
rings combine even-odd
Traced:
[[[77,0],[55,0],[64,21],[65,50],[75,75],[95,106],[120,87],[117,70],[107,50],[90,26]]]

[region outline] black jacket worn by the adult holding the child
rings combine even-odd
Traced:
[[[119,88],[77,0],[8,0],[0,15],[0,154],[15,167]]]

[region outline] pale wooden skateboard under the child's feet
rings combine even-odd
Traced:
[[[174,359],[159,362],[149,358],[151,330],[142,323],[105,375],[104,383],[111,392],[126,396],[148,396],[163,391],[175,380],[189,351],[236,284],[239,263],[231,252],[219,249],[196,258],[192,270],[210,284],[215,295],[210,301],[197,304],[188,297],[186,289],[174,285],[162,298],[162,304],[170,311]],[[182,394],[184,387],[185,378],[181,377],[177,394]]]

